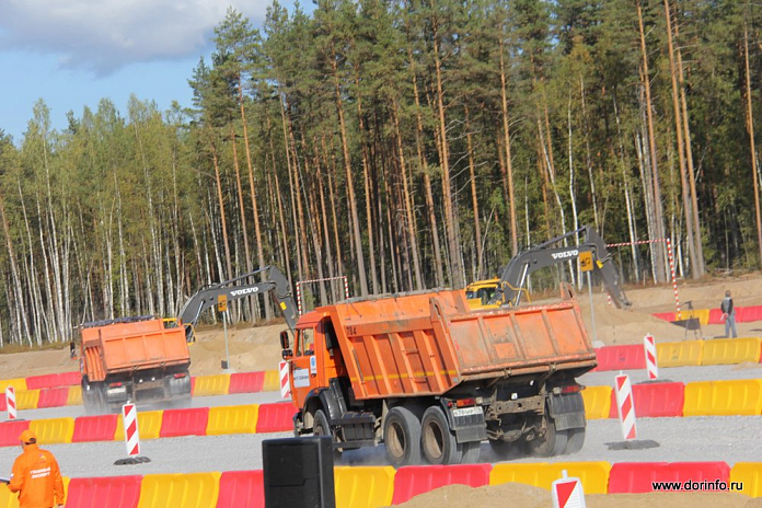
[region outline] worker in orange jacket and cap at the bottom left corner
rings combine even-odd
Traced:
[[[13,463],[8,488],[19,493],[20,508],[62,508],[66,503],[64,481],[58,462],[37,446],[37,436],[24,430],[19,436],[24,452]]]

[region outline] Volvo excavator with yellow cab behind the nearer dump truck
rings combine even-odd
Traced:
[[[579,245],[558,245],[563,240],[574,238],[576,234],[584,235],[584,241]],[[527,292],[524,284],[530,274],[541,268],[575,261],[587,253],[592,255],[592,269],[601,275],[603,286],[616,308],[630,309],[632,303],[620,286],[620,275],[611,263],[612,256],[605,249],[603,239],[590,226],[582,226],[519,253],[503,269],[499,278],[470,284],[465,288],[469,307],[496,309],[503,305],[519,305],[522,293]]]

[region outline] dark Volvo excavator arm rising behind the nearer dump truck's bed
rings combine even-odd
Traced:
[[[584,243],[568,247],[556,246],[558,242],[578,233],[585,233]],[[513,257],[503,270],[490,303],[518,305],[521,302],[521,289],[530,274],[566,261],[577,259],[580,254],[588,252],[592,253],[593,270],[601,274],[603,285],[614,304],[620,309],[628,309],[632,303],[620,286],[616,268],[610,263],[611,254],[605,249],[603,239],[589,226],[551,239]]]

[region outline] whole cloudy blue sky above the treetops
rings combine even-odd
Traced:
[[[21,142],[43,99],[53,128],[130,94],[168,109],[192,105],[187,84],[208,59],[229,5],[259,27],[272,0],[0,0],[0,129]],[[289,10],[292,1],[281,1]],[[311,10],[311,2],[307,2]]]

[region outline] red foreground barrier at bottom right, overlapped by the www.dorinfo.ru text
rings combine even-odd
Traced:
[[[651,482],[727,482],[729,476],[725,462],[621,462],[609,473],[609,494],[653,492]]]

